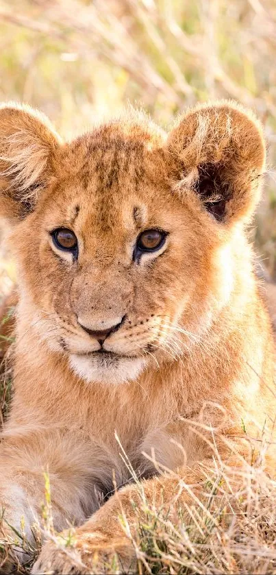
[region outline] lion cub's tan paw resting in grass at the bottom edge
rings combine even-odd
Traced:
[[[70,539],[71,539],[70,535]],[[136,573],[134,547],[126,538],[108,539],[101,533],[75,530],[73,542],[66,546],[68,533],[58,541],[48,541],[32,568],[33,575],[87,575]],[[60,544],[60,541],[64,543]]]

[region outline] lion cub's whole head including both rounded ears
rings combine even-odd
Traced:
[[[3,106],[19,317],[91,382],[192,353],[234,289],[264,155],[260,126],[229,102],[188,111],[168,136],[132,114],[71,143],[31,108]]]

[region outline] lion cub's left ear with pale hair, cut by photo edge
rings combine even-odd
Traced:
[[[10,222],[34,209],[53,179],[60,137],[50,121],[29,106],[0,106],[0,215]]]

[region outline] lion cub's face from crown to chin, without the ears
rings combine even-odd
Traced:
[[[184,351],[175,326],[196,304],[209,259],[162,155],[119,130],[112,138],[71,145],[72,164],[67,150],[53,192],[23,224],[36,330],[79,376],[103,382],[134,379],[149,360]]]

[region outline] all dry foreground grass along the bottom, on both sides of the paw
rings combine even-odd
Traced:
[[[178,503],[181,492],[187,489],[181,477],[178,477],[175,498],[168,510],[149,502],[142,484],[133,476],[140,493],[140,503],[133,502],[136,513],[134,530],[130,533],[123,509],[119,521],[135,548],[136,572],[158,575],[275,574],[276,482],[269,479],[262,469],[265,450],[266,445],[263,445],[253,467],[251,462],[243,461],[240,469],[235,471],[214,457],[214,467],[204,469],[205,482],[200,500],[198,493],[188,488],[192,502],[186,508]],[[126,461],[126,465],[129,462]],[[177,477],[175,473],[172,476]],[[60,537],[53,529],[47,474],[41,515],[42,530],[37,524],[33,526],[35,545],[25,537],[23,520],[21,532],[14,530],[9,538],[3,536],[0,522],[0,550],[5,549],[2,568],[10,556],[15,565],[17,563],[14,573],[29,574],[45,536],[67,556],[71,555],[75,563],[74,528],[66,537]],[[2,526],[5,527],[5,515]],[[17,552],[26,554],[25,567],[18,565],[15,548]],[[105,573],[116,574],[119,570],[120,561],[114,556],[105,565]],[[99,573],[97,557],[90,572]]]

